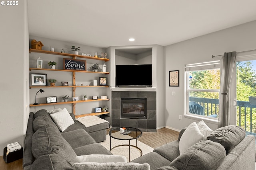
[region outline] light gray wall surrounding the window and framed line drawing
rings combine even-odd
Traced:
[[[201,63],[220,58],[212,59],[212,55],[222,55],[230,51],[247,51],[256,49],[256,21],[231,27],[201,37],[196,37],[187,41],[168,45],[165,47],[165,124],[167,127],[182,129],[193,121],[179,115],[185,112],[185,86],[184,86],[184,66],[185,64]],[[180,87],[168,86],[168,72],[170,70],[180,70]],[[172,96],[172,92],[176,96]],[[235,113],[234,113],[235,114]],[[210,121],[207,125],[216,129],[217,124]]]

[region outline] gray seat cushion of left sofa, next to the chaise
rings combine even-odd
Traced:
[[[96,141],[84,130],[76,129],[70,132],[61,133],[62,137],[74,148],[96,143]]]

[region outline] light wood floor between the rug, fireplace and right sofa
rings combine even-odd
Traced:
[[[109,131],[110,129],[107,129],[107,135]],[[143,132],[142,136],[138,138],[138,141],[155,149],[166,143],[178,140],[178,137],[179,132],[164,127],[158,129],[157,132]]]

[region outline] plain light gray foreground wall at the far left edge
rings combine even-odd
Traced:
[[[9,143],[24,146],[29,114],[27,1],[0,6],[0,155]]]

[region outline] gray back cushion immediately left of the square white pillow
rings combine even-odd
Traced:
[[[57,131],[59,131],[56,124],[52,121],[52,118],[51,117],[46,117],[46,116],[36,117],[33,121],[33,127],[34,127],[34,131],[37,131],[41,127],[53,127]]]

